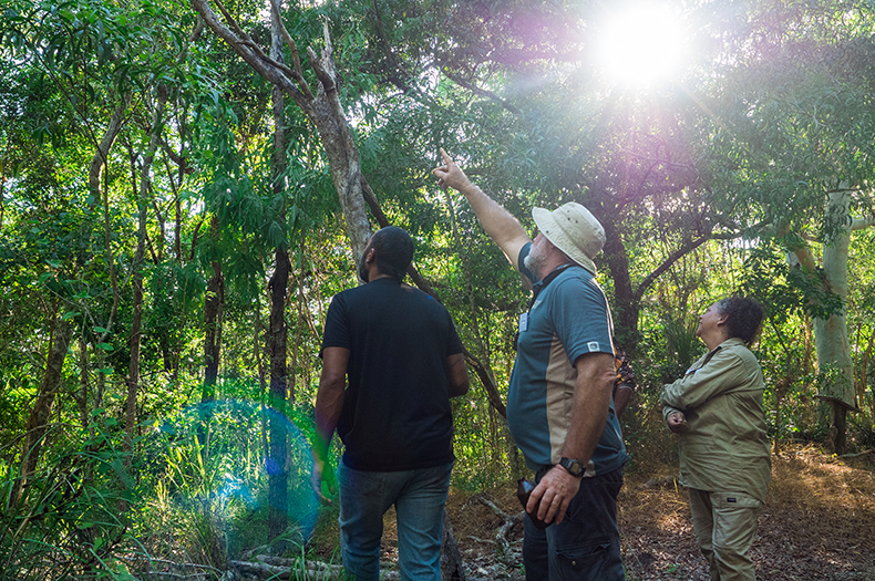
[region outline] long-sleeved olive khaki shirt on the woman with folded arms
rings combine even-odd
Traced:
[[[762,370],[740,339],[728,339],[662,391],[662,417],[683,412],[680,484],[765,500],[772,474]]]

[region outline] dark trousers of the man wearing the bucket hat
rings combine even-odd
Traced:
[[[541,470],[535,480],[547,473]],[[584,478],[560,525],[538,530],[525,517],[523,564],[526,581],[616,581],[626,579],[617,528],[622,468]]]

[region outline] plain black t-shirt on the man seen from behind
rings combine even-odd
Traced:
[[[347,466],[395,471],[454,459],[445,363],[463,349],[442,304],[392,278],[346,290],[328,309],[326,347],[350,352],[337,426]]]

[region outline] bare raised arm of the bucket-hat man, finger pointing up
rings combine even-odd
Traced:
[[[519,250],[532,241],[525,229],[507,210],[472,184],[443,147],[441,148],[441,158],[443,165],[432,170],[437,177],[437,184],[443,188],[451,187],[467,198],[480,224],[483,225],[483,229],[498,245],[514,268],[519,270],[519,264],[517,264]]]

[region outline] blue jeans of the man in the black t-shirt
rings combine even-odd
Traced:
[[[379,580],[383,513],[394,505],[401,579],[440,581],[443,508],[452,470],[453,463],[371,473],[341,463],[340,546],[347,573],[357,581]]]

